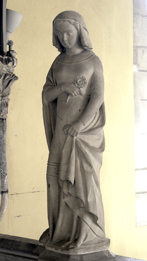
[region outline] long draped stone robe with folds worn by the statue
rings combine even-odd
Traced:
[[[110,244],[104,232],[100,190],[100,168],[105,147],[105,106],[103,102],[77,137],[66,132],[66,127],[68,129],[70,124],[77,120],[91,95],[98,91],[98,79],[93,79],[90,68],[95,64],[95,70],[99,69],[100,59],[92,55],[90,59],[81,60],[79,63],[79,68],[78,63],[62,64],[58,56],[48,72],[43,88],[43,117],[50,151],[47,167],[49,229],[42,234],[40,241],[62,249],[76,247],[83,252],[93,252],[106,250]],[[47,103],[44,99],[45,91],[60,84],[58,79],[63,70],[71,71],[72,74],[70,66],[74,73],[69,77],[73,78],[78,76],[81,67],[84,68],[79,72],[79,75],[85,74],[87,79],[86,91],[85,87],[82,89],[83,97],[70,97],[67,103],[68,94],[63,93],[56,100]],[[75,99],[79,99],[77,103]],[[74,111],[78,106],[81,110],[76,109],[70,118],[68,112],[72,108]]]

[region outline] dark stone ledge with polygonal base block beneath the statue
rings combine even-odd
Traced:
[[[70,259],[69,259],[70,258]],[[116,261],[143,261],[140,259],[115,255]],[[0,234],[0,260],[1,261],[107,261],[114,260],[109,251],[99,251],[90,254],[66,255],[53,251],[46,251],[38,240]]]

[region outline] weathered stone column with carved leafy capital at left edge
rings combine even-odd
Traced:
[[[18,79],[13,73],[17,59],[0,56],[0,221],[8,205],[8,177],[6,160],[6,119],[9,93],[12,84]]]

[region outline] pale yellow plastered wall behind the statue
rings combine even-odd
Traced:
[[[132,0],[8,0],[23,14],[12,34],[18,65],[7,119],[9,205],[1,233],[39,239],[47,228],[45,139],[41,92],[51,63],[52,20],[75,10],[84,17],[105,74],[106,149],[101,171],[106,235],[115,254],[146,259],[147,227],[136,228]]]

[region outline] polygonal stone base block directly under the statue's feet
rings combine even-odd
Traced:
[[[38,261],[115,261],[115,255],[109,250],[92,252],[87,254],[63,254],[54,251],[41,253]]]

